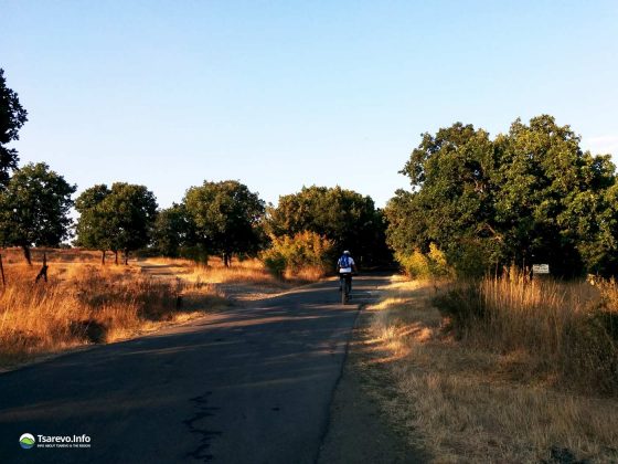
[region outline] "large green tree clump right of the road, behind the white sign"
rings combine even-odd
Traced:
[[[493,140],[457,123],[424,134],[403,171],[412,191],[387,208],[398,253],[435,243],[461,273],[548,263],[553,273],[615,272],[615,167],[542,115]]]

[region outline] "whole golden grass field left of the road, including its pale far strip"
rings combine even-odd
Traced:
[[[100,253],[46,250],[49,282],[34,282],[42,250],[29,266],[19,250],[3,250],[0,282],[0,368],[93,342],[113,342],[221,310],[226,297],[252,299],[290,284],[257,260],[130,260],[100,265]]]

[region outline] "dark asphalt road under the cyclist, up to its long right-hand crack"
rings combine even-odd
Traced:
[[[386,277],[233,307],[0,375],[1,463],[313,463],[359,304]],[[90,447],[22,450],[23,433]]]

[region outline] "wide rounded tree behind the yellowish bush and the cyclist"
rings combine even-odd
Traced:
[[[268,210],[268,232],[294,236],[315,232],[349,249],[359,262],[387,260],[383,212],[370,197],[341,187],[303,187],[298,193],[279,197],[277,208]]]

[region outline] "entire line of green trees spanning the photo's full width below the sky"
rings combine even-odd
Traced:
[[[618,273],[618,186],[609,155],[579,147],[569,126],[543,115],[515,120],[491,139],[457,123],[424,134],[384,211],[340,187],[309,187],[267,205],[236,180],[204,181],[179,203],[159,209],[145,186],[116,182],[86,189],[45,164],[18,168],[8,144],[28,120],[0,70],[0,245],[73,243],[113,251],[118,262],[142,250],[206,261],[256,256],[281,268],[327,265],[351,250],[362,265],[397,261],[411,274],[482,275],[503,266],[550,264],[552,274]],[[79,213],[76,224],[71,208]],[[105,259],[105,253],[102,253]]]

